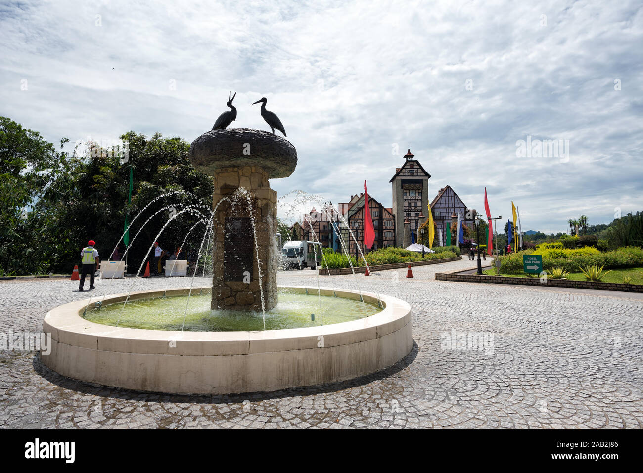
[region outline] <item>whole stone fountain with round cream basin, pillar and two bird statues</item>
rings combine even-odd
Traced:
[[[268,132],[226,129],[236,118],[233,98],[228,95],[231,111],[190,147],[192,165],[214,180],[210,307],[268,312],[277,303],[279,251],[276,192],[268,180],[293,174],[297,152],[289,141]],[[259,102],[265,105],[266,99]],[[271,129],[283,131],[264,106],[262,116]],[[391,366],[412,349],[411,309],[400,299],[363,290],[284,289],[316,300],[328,296],[379,305],[379,312],[329,325],[235,332],[128,328],[84,318],[88,308],[100,312],[128,300],[189,298],[207,294],[210,287],[123,292],[51,310],[42,323],[43,332],[51,334],[51,352],[41,353],[41,359],[61,375],[105,386],[222,395],[347,380]],[[266,315],[262,317],[265,328]]]

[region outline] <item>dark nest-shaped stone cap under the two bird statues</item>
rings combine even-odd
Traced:
[[[259,166],[269,179],[275,179],[293,174],[297,150],[287,139],[266,131],[226,128],[195,139],[190,162],[197,171],[212,176],[221,168]]]

